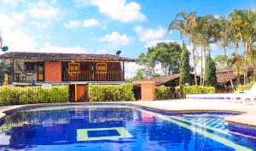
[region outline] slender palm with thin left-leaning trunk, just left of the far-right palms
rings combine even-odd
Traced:
[[[226,68],[228,70],[229,77],[230,77],[230,84],[232,89],[234,89],[233,81],[230,75],[230,65],[227,60],[227,50],[226,50],[226,48],[230,44],[230,31],[232,30],[231,23],[229,20],[226,20],[224,18],[219,18],[216,25],[218,25],[217,26],[218,27],[218,44],[219,44],[219,47],[223,48],[224,50],[224,58],[225,58]]]

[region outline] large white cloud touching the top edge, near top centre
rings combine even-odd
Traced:
[[[146,16],[141,13],[141,6],[125,0],[91,0],[90,4],[99,8],[100,13],[108,15],[112,20],[122,22],[143,21]]]

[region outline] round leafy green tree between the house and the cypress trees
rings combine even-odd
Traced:
[[[143,70],[138,70],[137,76],[153,78],[160,76],[158,70],[164,75],[171,75],[179,72],[181,46],[177,42],[160,42],[155,47],[148,48],[146,54],[138,57],[138,63],[143,65]],[[160,65],[160,69],[156,69]],[[143,71],[143,74],[142,74]]]

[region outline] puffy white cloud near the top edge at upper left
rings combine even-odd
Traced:
[[[56,19],[60,14],[58,8],[55,8],[45,1],[39,1],[38,3],[32,3],[29,5],[28,14],[33,18],[38,19]]]

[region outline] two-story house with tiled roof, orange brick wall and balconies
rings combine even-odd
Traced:
[[[86,92],[88,83],[121,84],[125,82],[125,62],[119,55],[87,53],[26,53],[0,55],[13,66],[9,83],[13,85],[67,84]]]

